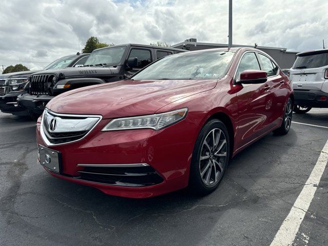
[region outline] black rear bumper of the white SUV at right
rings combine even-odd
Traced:
[[[325,96],[326,100],[320,97]],[[311,108],[328,108],[328,93],[319,90],[294,89],[295,104]]]

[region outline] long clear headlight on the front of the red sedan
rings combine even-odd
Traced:
[[[183,108],[160,114],[113,119],[101,131],[143,128],[150,128],[157,131],[184,119],[187,112],[188,108]]]

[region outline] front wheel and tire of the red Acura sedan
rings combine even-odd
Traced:
[[[189,188],[198,195],[213,192],[221,182],[230,156],[227,127],[212,119],[201,129],[193,151]]]

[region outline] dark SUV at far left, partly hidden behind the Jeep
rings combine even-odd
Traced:
[[[61,57],[43,70],[83,66],[90,54],[67,55]],[[24,93],[31,74],[39,71],[15,72],[0,75],[0,110],[13,115],[29,115],[25,107],[17,105],[17,96]]]

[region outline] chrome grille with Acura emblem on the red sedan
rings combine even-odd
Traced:
[[[45,110],[41,135],[48,145],[60,145],[84,138],[99,120],[97,115],[64,115]]]

